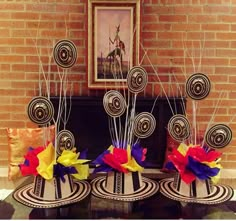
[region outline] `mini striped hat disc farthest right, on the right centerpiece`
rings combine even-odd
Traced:
[[[205,136],[205,141],[212,148],[226,147],[232,140],[231,129],[224,124],[217,124],[211,127]]]

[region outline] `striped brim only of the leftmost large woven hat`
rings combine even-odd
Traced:
[[[87,181],[74,181],[74,191],[70,196],[57,200],[44,200],[33,194],[33,188],[33,183],[25,185],[13,192],[13,198],[29,207],[53,208],[76,203],[84,199],[91,191],[91,186]]]

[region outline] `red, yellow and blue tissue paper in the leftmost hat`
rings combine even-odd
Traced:
[[[65,174],[71,174],[80,180],[88,177],[89,165],[85,163],[89,160],[85,159],[85,152],[76,153],[75,150],[63,150],[57,158],[55,155],[52,143],[46,147],[30,147],[24,156],[24,163],[19,165],[22,175],[41,175],[47,180],[60,177],[63,182]]]

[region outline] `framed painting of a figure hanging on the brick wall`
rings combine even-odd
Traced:
[[[88,0],[88,87],[125,87],[139,42],[140,0]]]

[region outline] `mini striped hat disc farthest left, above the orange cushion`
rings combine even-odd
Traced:
[[[53,119],[54,107],[46,97],[36,97],[28,104],[27,113],[32,122],[44,125]]]

